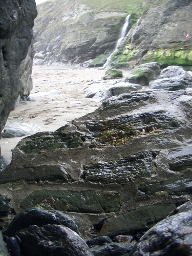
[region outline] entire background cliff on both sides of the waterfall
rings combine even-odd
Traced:
[[[112,66],[133,67],[150,61],[162,67],[191,66],[191,39],[185,37],[192,34],[191,0],[122,1],[124,8],[121,2],[113,6],[105,0],[102,9],[100,2],[97,6],[94,3],[54,0],[40,5],[34,63],[92,59],[93,65],[103,66],[115,48],[126,15],[132,14],[129,32],[113,55]]]

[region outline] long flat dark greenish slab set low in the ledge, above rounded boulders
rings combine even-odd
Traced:
[[[119,211],[120,196],[118,193],[96,193],[93,190],[68,191],[68,190],[47,190],[34,191],[26,197],[20,206],[24,209],[41,205],[45,207],[46,199],[49,200],[52,208],[60,211],[90,212],[99,214],[101,212]]]

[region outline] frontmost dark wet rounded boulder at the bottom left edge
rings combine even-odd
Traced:
[[[93,255],[83,239],[73,230],[62,225],[31,225],[17,231],[22,241],[22,255]]]

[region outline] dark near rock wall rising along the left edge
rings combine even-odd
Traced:
[[[29,95],[35,0],[0,3],[0,132],[15,101]]]

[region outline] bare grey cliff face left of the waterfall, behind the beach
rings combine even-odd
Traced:
[[[35,63],[81,62],[115,46],[126,12],[94,12],[79,2],[57,0],[38,8]]]

